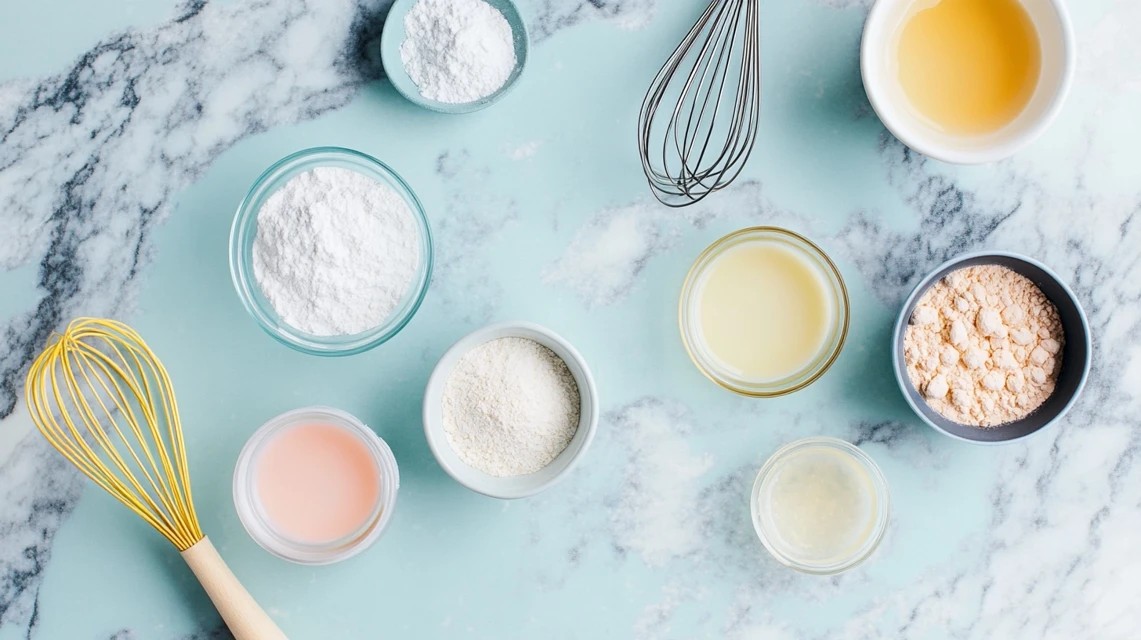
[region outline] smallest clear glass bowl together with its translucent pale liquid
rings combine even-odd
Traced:
[[[753,484],[753,527],[780,564],[817,575],[863,562],[888,529],[888,481],[866,453],[836,438],[778,449]]]

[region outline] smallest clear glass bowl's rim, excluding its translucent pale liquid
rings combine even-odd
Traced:
[[[761,494],[767,487],[767,481],[779,468],[780,462],[793,453],[811,448],[831,449],[857,462],[867,472],[868,478],[872,479],[872,486],[875,492],[875,505],[873,507],[875,521],[872,525],[872,530],[867,538],[847,558],[841,558],[827,564],[804,562],[782,552],[771,540],[775,534],[770,534],[766,530],[766,518],[761,508]],[[837,438],[803,438],[777,449],[777,452],[769,457],[764,465],[761,467],[760,472],[756,473],[756,481],[753,483],[753,492],[750,497],[750,511],[753,516],[753,528],[756,529],[756,535],[761,538],[761,544],[764,545],[764,549],[767,549],[769,553],[777,559],[777,561],[786,567],[791,567],[806,574],[833,575],[859,565],[880,545],[880,542],[883,540],[883,534],[888,530],[888,518],[891,512],[891,495],[888,492],[888,480],[883,477],[883,472],[880,471],[880,467],[859,447]]]

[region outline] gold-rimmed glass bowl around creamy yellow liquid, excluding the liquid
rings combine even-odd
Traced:
[[[698,318],[699,295],[710,265],[734,246],[759,241],[779,243],[816,265],[819,273],[824,276],[825,285],[832,298],[830,302],[834,309],[832,325],[828,327],[828,337],[820,351],[804,368],[778,380],[750,380],[726,370],[705,346]],[[706,378],[743,396],[759,398],[776,397],[808,387],[812,382],[816,382],[832,366],[832,363],[840,356],[840,350],[848,338],[848,289],[844,286],[844,278],[840,275],[840,269],[811,241],[779,227],[750,227],[741,229],[709,245],[697,257],[694,266],[689,269],[689,275],[686,276],[686,284],[681,287],[681,302],[679,307],[678,324],[681,327],[681,341],[686,346],[689,359],[697,365],[697,368]]]

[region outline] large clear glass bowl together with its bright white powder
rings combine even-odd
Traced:
[[[317,147],[266,170],[230,229],[234,287],[262,330],[299,351],[358,354],[403,329],[431,280],[431,230],[400,177]]]

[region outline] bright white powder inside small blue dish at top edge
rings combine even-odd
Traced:
[[[484,0],[420,0],[404,17],[404,68],[442,103],[491,96],[515,71],[511,25]]]

